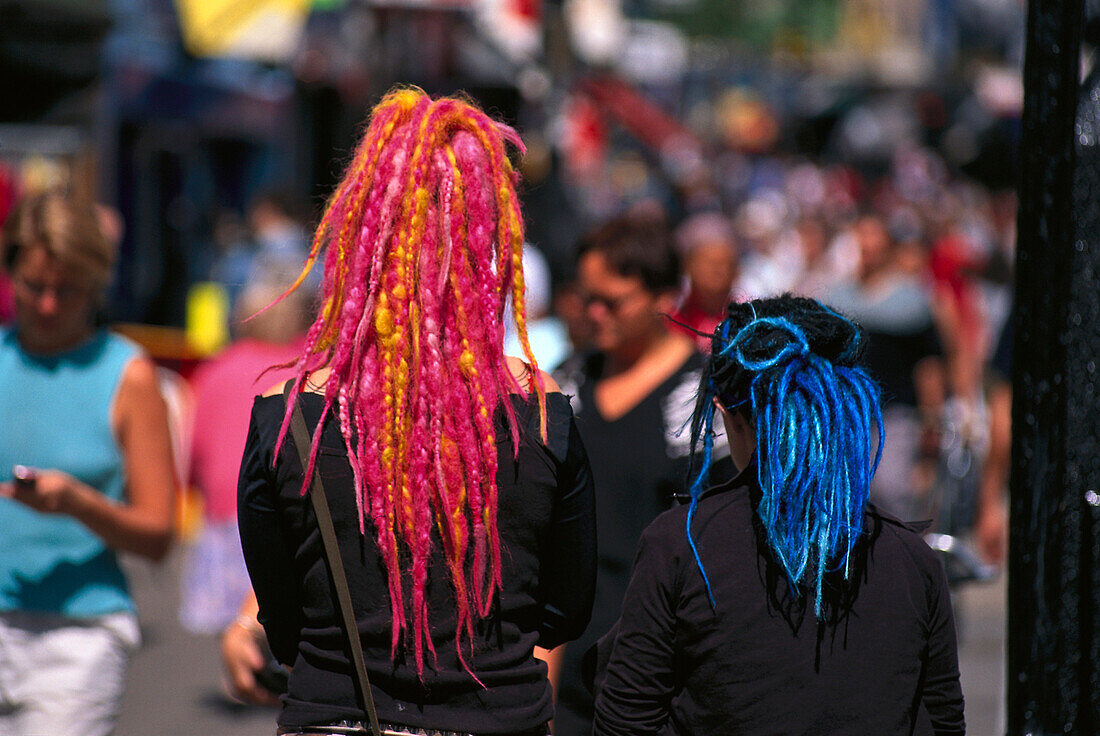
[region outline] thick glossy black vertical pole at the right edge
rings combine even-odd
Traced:
[[[1096,231],[1082,231],[1084,221],[1075,220],[1075,191],[1100,195],[1085,191],[1086,178],[1075,186],[1084,20],[1084,0],[1030,1],[1013,365],[1010,736],[1100,728],[1100,590],[1092,581],[1100,249]]]

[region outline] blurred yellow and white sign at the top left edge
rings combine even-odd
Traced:
[[[190,53],[270,63],[287,62],[297,52],[311,4],[310,0],[176,0]]]

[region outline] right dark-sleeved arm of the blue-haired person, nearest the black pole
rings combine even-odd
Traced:
[[[966,733],[963,714],[963,689],[959,685],[958,642],[955,615],[947,576],[938,561],[933,562],[928,593],[928,655],[925,661],[921,701],[927,710],[935,736],[961,736]]]

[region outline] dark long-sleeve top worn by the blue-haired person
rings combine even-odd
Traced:
[[[622,618],[601,642],[596,736],[964,734],[935,553],[869,509],[850,582],[826,576],[820,623],[812,593],[792,596],[768,550],[756,479],[750,466],[713,490],[692,521],[713,609],[688,545],[688,508],[642,535]]]

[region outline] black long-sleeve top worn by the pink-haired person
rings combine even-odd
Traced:
[[[306,424],[320,419],[323,398],[302,394]],[[454,598],[446,563],[433,556],[427,589],[438,660],[425,657],[422,681],[411,652],[391,659],[386,573],[367,521],[359,515],[339,425],[326,418],[317,468],[332,509],[378,717],[421,728],[502,734],[534,728],[553,715],[546,666],[536,645],[554,647],[583,631],[595,583],[595,518],[587,458],[569,402],[547,396],[548,441],[538,409],[512,400],[524,425],[514,455],[503,413],[497,416],[498,527],[503,590],[482,622],[463,671],[454,649]],[[292,437],[274,463],[283,396],[256,398],[241,465],[239,521],[249,574],[276,658],[293,666],[282,725],[364,721],[353,685],[317,519],[300,494],[302,470]],[[435,549],[439,550],[433,529]],[[408,589],[406,589],[408,590]]]

